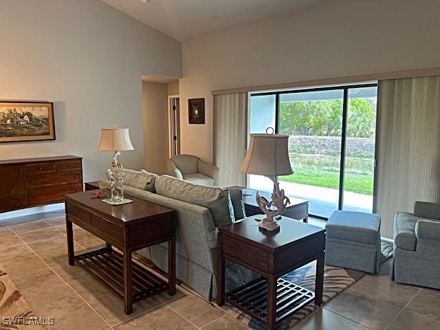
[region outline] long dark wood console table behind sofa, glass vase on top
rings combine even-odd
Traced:
[[[133,303],[168,290],[173,296],[175,277],[175,211],[127,196],[133,203],[111,206],[91,198],[91,192],[67,195],[65,200],[69,265],[78,263],[124,300],[125,314]],[[105,190],[107,196],[109,190]],[[106,247],[74,255],[72,223],[106,242]],[[131,257],[133,251],[168,241],[168,283],[148,272]],[[122,254],[112,248],[118,248]]]

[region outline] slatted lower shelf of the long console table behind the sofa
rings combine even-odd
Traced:
[[[75,262],[124,300],[124,256],[115,250],[102,248],[75,256]],[[131,261],[132,302],[155,296],[168,290],[168,283]]]

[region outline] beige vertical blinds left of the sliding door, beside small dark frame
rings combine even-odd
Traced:
[[[214,164],[218,186],[245,186],[239,167],[245,157],[247,93],[214,95]]]

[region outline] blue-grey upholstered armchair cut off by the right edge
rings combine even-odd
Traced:
[[[440,289],[440,204],[416,201],[394,220],[394,267],[399,283]]]

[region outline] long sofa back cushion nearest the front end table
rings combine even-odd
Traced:
[[[230,225],[235,221],[228,190],[198,186],[168,175],[159,176],[155,188],[159,195],[208,208],[215,226]]]

